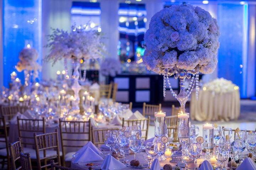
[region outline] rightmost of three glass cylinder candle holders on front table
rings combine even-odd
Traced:
[[[206,159],[210,160],[210,149],[213,148],[214,126],[213,124],[203,124],[203,148],[206,149]]]

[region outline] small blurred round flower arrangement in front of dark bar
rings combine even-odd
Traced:
[[[101,64],[100,71],[104,76],[115,77],[121,73],[121,63],[115,58],[106,58]]]

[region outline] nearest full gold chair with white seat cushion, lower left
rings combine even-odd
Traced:
[[[57,159],[58,165],[60,164],[60,151],[59,151],[59,138],[58,129],[55,132],[37,135],[34,133],[34,144],[36,148],[37,157],[37,169],[42,170],[43,168],[51,166],[47,164],[47,160]],[[56,149],[56,150],[53,150]],[[41,164],[44,163],[44,165]]]

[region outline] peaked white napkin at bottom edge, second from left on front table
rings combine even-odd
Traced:
[[[124,165],[122,162],[112,157],[111,155],[107,155],[101,165],[102,170],[119,170],[123,168],[126,168],[126,165]]]

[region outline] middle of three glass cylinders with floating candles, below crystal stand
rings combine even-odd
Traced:
[[[190,138],[190,114],[178,113],[178,137]]]

